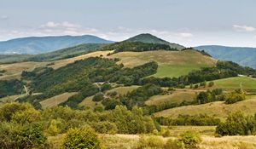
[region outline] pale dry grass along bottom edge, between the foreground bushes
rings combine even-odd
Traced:
[[[215,137],[215,127],[208,126],[178,126],[172,127],[171,137],[162,137],[160,135],[143,135],[144,137],[152,137],[165,143],[168,139],[175,139],[178,135],[186,130],[195,130],[201,134],[202,142],[199,144],[200,149],[254,149],[256,148],[256,136],[224,136]],[[140,144],[142,135],[98,135],[99,140],[104,148],[111,149],[137,149]],[[57,149],[61,147],[64,135],[49,136],[48,142],[50,148]],[[148,147],[148,149],[153,149]]]

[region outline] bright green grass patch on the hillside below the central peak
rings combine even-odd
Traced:
[[[169,65],[160,64],[157,72],[153,77],[180,77],[187,75],[189,72],[194,70],[200,70],[201,67],[207,67],[203,64],[184,64],[184,65]]]

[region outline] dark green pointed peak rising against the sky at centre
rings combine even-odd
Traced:
[[[129,39],[125,40],[127,42],[142,42],[142,43],[159,43],[159,44],[166,44],[169,45],[172,49],[184,49],[182,45],[177,43],[169,43],[159,37],[155,37],[149,33],[139,34],[135,37],[130,37]]]

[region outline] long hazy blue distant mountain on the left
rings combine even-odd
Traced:
[[[0,42],[0,54],[42,54],[82,43],[113,43],[92,35],[21,37]]]

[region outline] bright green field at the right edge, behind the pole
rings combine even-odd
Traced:
[[[215,88],[222,89],[256,89],[256,79],[251,77],[229,77],[215,80]]]

